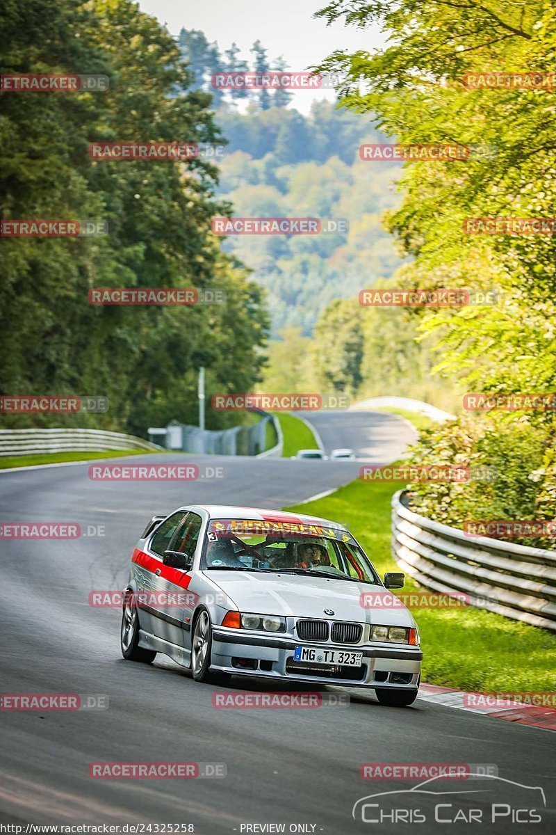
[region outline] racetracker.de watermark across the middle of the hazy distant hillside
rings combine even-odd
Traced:
[[[213,217],[214,235],[336,235],[349,231],[345,217]]]

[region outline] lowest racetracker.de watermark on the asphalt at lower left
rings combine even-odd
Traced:
[[[91,762],[89,765],[89,777],[98,780],[194,780],[227,775],[225,762]]]

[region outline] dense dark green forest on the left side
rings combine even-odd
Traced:
[[[2,73],[103,74],[104,92],[2,93],[2,220],[87,219],[98,237],[3,237],[0,392],[102,395],[103,415],[2,415],[3,426],[88,425],[144,434],[197,414],[208,396],[259,377],[263,291],[221,251],[211,219],[226,209],[218,170],[188,163],[94,160],[103,140],[215,144],[212,97],[168,33],[136,3],[19,0],[3,7]],[[92,306],[92,287],[218,288],[226,304]],[[210,413],[213,426],[232,422]]]

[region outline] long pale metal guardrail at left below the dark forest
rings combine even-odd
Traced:
[[[103,429],[0,429],[0,457],[62,452],[100,452],[105,449],[159,450],[144,438]]]

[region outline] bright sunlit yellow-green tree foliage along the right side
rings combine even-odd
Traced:
[[[403,144],[471,149],[461,161],[406,164],[403,201],[388,217],[413,257],[398,276],[405,286],[498,294],[496,304],[423,313],[420,330],[436,341],[436,369],[455,377],[462,393],[556,391],[556,235],[464,230],[469,218],[553,218],[554,88],[525,83],[528,73],[553,78],[553,3],[335,0],[318,14],[388,33],[387,46],[373,55],[338,51],[323,63],[323,70],[346,73],[348,109],[376,114]],[[485,73],[513,80],[489,86]],[[524,81],[516,83],[516,73]],[[456,523],[463,506],[477,514],[483,500],[483,511],[501,518],[549,518],[556,514],[553,442],[550,411],[489,412],[451,423],[423,441],[423,457],[483,455],[505,476],[488,489],[423,484],[414,492],[428,512]]]

